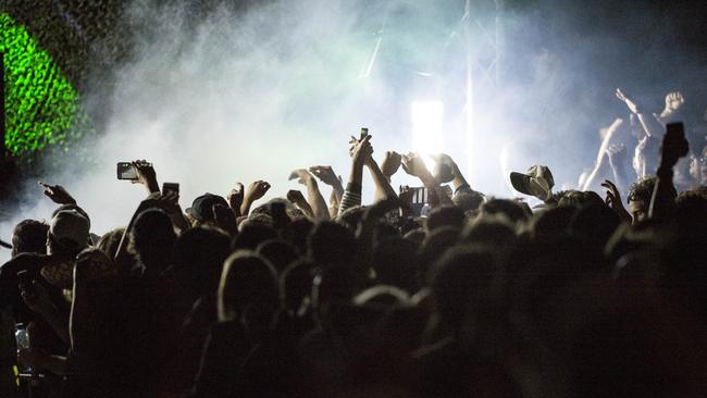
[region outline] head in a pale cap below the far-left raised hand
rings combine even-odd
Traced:
[[[77,210],[57,212],[49,223],[47,234],[47,252],[78,253],[88,246],[90,223]]]

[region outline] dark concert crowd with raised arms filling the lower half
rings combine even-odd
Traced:
[[[371,135],[349,142],[346,185],[296,170],[303,191],[258,204],[264,181],[183,211],[136,161],[148,195],[102,236],[45,185],[57,209],[16,225],[0,268],[0,395],[703,396],[707,134],[671,123],[680,92],[653,115],[617,97],[630,117],[578,189],[544,165],[509,176],[532,209],[445,154],[379,165]],[[396,192],[399,169],[424,189]]]

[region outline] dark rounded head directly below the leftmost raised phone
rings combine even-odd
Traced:
[[[170,216],[160,209],[148,209],[135,220],[129,248],[148,270],[161,272],[172,260],[175,240]]]

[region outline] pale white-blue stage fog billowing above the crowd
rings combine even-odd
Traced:
[[[646,59],[665,65],[671,57],[689,73],[700,67],[689,53],[661,47],[670,42],[669,27],[643,48],[645,58],[635,58],[633,48],[628,60],[625,51],[641,38],[592,30],[586,23],[574,28],[581,4],[507,9],[500,18],[501,78],[475,86],[476,138],[469,142],[463,1],[281,1],[237,13],[215,9],[199,20],[189,8],[150,4],[126,7],[135,46],[131,61],[106,66],[114,67],[114,84],[87,84],[86,98],[110,103],[101,110],[108,122],[99,138],[86,144],[94,146],[97,164],[42,178],[72,192],[98,235],[125,225],[145,196],[142,187],[116,179],[119,161],[152,162],[160,183],[181,184],[184,209],[196,196],[225,195],[237,182],[265,179],[272,184],[266,198],[284,196],[298,187],[287,177],[299,167],[331,164],[346,181],[348,139],[363,126],[379,161],[386,150],[424,151],[412,148],[410,109],[418,100],[444,104],[441,149],[462,165],[475,189],[512,195],[501,160],[513,170],[547,164],[558,186],[572,186],[592,166],[598,129],[625,116],[612,86],[659,112],[668,79],[624,78],[641,75]],[[653,17],[636,13],[620,30],[635,35],[632,26]],[[394,176],[396,189],[419,185],[404,174]],[[364,185],[370,201],[368,175]],[[328,198],[328,188],[320,187]],[[24,192],[21,215],[0,225],[5,240],[18,220],[45,220],[53,209],[36,182],[27,182]]]

